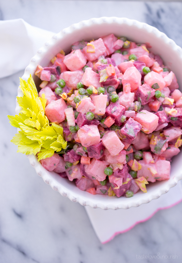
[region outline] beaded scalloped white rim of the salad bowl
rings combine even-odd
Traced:
[[[129,26],[130,28],[134,27],[139,30],[144,30],[144,32],[153,34],[153,36],[157,37],[159,40],[162,40],[163,43],[170,46],[171,51],[177,52],[180,57],[182,64],[182,49],[175,44],[173,40],[168,38],[164,33],[160,32],[157,28],[150,26],[146,23],[141,23],[136,20],[127,19],[127,18],[117,18],[117,17],[101,17],[101,18],[92,18],[89,20],[84,20],[79,23],[73,24],[59,33],[55,34],[49,41],[47,41],[35,54],[35,56],[31,59],[30,64],[25,68],[25,73],[22,76],[22,79],[29,78],[30,74],[32,76],[35,73],[36,67],[40,61],[44,58],[46,52],[50,50],[51,47],[54,47],[61,40],[64,39],[65,36],[71,36],[72,32],[76,32],[82,29],[92,28],[94,25],[102,25],[106,24],[107,26],[115,24],[115,25],[124,25]],[[181,80],[182,82],[182,80]],[[22,96],[22,91],[18,88],[18,96]],[[19,114],[21,108],[19,107],[16,100],[16,114]],[[180,155],[180,153],[179,153]],[[37,161],[37,157],[34,155],[29,155],[29,161],[32,167],[35,168],[36,173],[42,177],[45,183],[49,184],[52,189],[55,191],[59,191],[62,196],[68,197],[73,202],[79,202],[81,205],[89,205],[93,208],[101,208],[104,210],[107,209],[128,209],[130,207],[136,207],[144,203],[148,203],[153,199],[159,198],[162,194],[167,193],[171,187],[174,187],[179,180],[182,179],[182,172],[179,165],[180,156],[173,161],[175,167],[171,170],[173,175],[170,176],[170,179],[167,181],[158,181],[154,185],[149,185],[147,188],[147,193],[143,194],[142,192],[136,193],[132,198],[116,198],[109,197],[104,195],[91,195],[86,191],[82,191],[76,187],[75,184],[68,181],[65,178],[60,177],[58,174],[54,172],[49,172],[45,170],[41,163]],[[178,169],[176,170],[176,167]]]

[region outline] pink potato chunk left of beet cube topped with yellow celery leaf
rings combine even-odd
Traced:
[[[86,68],[85,73],[83,74],[82,83],[85,86],[94,86],[98,88],[101,86],[99,83],[100,77],[99,74],[94,72],[92,68]]]

